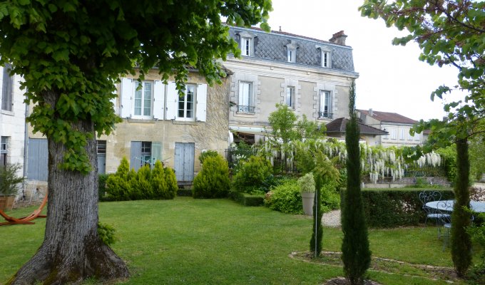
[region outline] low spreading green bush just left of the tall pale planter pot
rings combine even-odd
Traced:
[[[272,195],[265,200],[270,209],[275,209],[287,214],[302,214],[302,195],[297,180],[288,180],[282,185],[273,187]]]

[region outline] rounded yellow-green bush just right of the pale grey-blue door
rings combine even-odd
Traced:
[[[194,198],[223,198],[230,187],[228,162],[218,155],[206,157],[202,170],[193,182]]]

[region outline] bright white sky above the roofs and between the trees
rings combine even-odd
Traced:
[[[295,33],[328,41],[344,31],[352,46],[354,68],[359,73],[357,109],[399,113],[413,120],[441,119],[443,100],[430,99],[443,84],[456,85],[456,68],[429,66],[419,61],[419,46],[393,46],[392,39],[404,35],[387,28],[382,19],[360,16],[364,0],[272,0],[269,24],[273,31]],[[448,95],[447,101],[462,94]],[[451,97],[453,96],[453,97]]]

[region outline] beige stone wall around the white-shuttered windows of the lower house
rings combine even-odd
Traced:
[[[145,77],[146,81],[158,81],[160,75],[153,70]],[[170,79],[169,79],[170,81]],[[189,84],[203,85],[205,79],[196,72],[190,73]],[[130,160],[131,142],[160,142],[160,158],[165,166],[175,167],[175,143],[193,143],[195,146],[194,170],[200,170],[198,156],[203,150],[217,150],[224,155],[228,147],[228,80],[223,79],[223,84],[207,86],[206,118],[200,120],[178,120],[169,118],[169,108],[175,105],[168,103],[167,88],[165,88],[165,98],[163,105],[165,110],[161,118],[134,119],[123,118],[122,123],[116,125],[116,129],[111,135],[103,135],[98,140],[106,140],[106,172],[116,172],[116,169],[123,157]],[[115,109],[121,114],[122,91],[118,86],[118,98],[115,102]],[[195,102],[197,105],[200,102]],[[155,106],[153,106],[155,108]]]

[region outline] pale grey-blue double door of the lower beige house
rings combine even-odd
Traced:
[[[195,144],[193,142],[175,142],[175,176],[177,181],[194,179]]]

